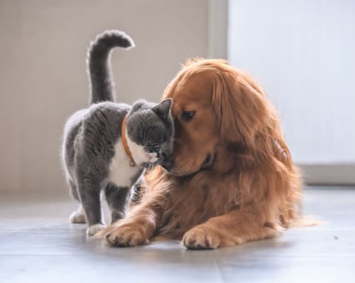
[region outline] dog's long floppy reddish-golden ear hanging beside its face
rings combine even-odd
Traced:
[[[212,100],[224,142],[253,145],[268,116],[266,98],[256,83],[231,68],[212,82]]]

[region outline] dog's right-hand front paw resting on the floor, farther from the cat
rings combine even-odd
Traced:
[[[182,242],[189,250],[212,250],[220,246],[221,239],[208,227],[198,225],[185,233]]]

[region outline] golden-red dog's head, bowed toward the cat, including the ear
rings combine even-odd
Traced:
[[[166,88],[173,99],[175,151],[165,166],[175,176],[226,171],[233,146],[255,146],[268,105],[261,90],[224,60],[190,60]]]

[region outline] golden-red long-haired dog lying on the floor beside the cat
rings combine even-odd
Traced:
[[[104,230],[115,246],[182,239],[215,249],[276,237],[300,219],[302,180],[261,87],[225,60],[192,59],[169,83],[174,153],[141,202]]]

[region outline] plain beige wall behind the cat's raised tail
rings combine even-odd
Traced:
[[[159,100],[190,56],[207,55],[204,0],[1,0],[0,191],[67,191],[60,166],[65,119],[86,107],[85,56],[107,28],[136,48],[113,56],[117,100]]]

